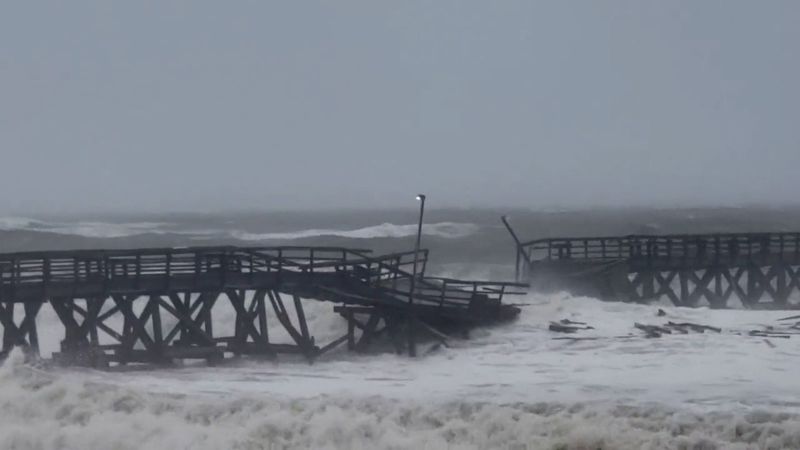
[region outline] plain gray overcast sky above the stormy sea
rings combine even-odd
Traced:
[[[0,5],[0,213],[796,202],[800,2]]]

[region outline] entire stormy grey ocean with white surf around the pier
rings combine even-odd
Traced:
[[[713,231],[797,231],[800,208],[575,211],[430,210],[429,273],[511,279],[509,214],[522,239]],[[416,211],[238,212],[1,217],[0,251],[195,245],[413,248]],[[476,329],[410,359],[325,355],[219,367],[98,371],[0,366],[3,449],[798,449],[800,339],[748,336],[785,311],[602,302],[531,292],[512,323]],[[310,302],[309,302],[310,303]],[[343,321],[309,304],[325,341]],[[645,339],[635,322],[713,325],[721,333]],[[230,315],[215,328],[231,327]],[[585,340],[550,321],[590,324]],[[43,309],[43,356],[60,329]],[[276,327],[271,327],[276,329]]]

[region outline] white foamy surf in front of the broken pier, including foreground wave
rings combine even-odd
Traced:
[[[786,312],[524,302],[517,322],[414,360],[341,351],[106,373],[14,355],[0,370],[0,448],[800,448],[800,340],[737,334]],[[344,332],[330,304],[308,306],[318,341]],[[554,340],[547,325],[563,318],[598,339]],[[723,332],[633,328],[667,320]]]

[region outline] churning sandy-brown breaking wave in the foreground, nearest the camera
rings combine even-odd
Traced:
[[[796,449],[800,418],[657,405],[154,395],[0,367],[0,448]]]

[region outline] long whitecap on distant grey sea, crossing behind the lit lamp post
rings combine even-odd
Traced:
[[[480,227],[474,223],[439,222],[423,225],[422,234],[426,236],[458,239],[475,234],[479,229]],[[417,225],[382,223],[380,225],[358,228],[355,230],[311,229],[284,233],[247,233],[235,231],[231,234],[236,239],[243,241],[293,240],[321,236],[352,239],[403,238],[415,236],[417,234]]]

